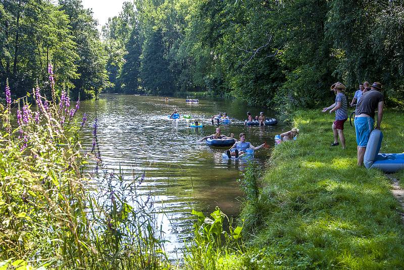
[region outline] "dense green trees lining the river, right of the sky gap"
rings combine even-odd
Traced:
[[[403,19],[402,1],[136,0],[104,27],[111,91],[199,91],[290,111],[323,102],[337,80],[351,92],[367,80],[393,100]]]

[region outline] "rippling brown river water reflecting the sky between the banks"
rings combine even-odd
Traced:
[[[178,110],[181,115],[190,114],[203,121],[204,128],[190,128],[190,123],[170,120],[168,116]],[[84,149],[91,149],[92,125],[95,115],[98,119],[98,143],[103,164],[109,171],[123,173],[131,180],[131,175],[142,175],[144,182],[138,188],[140,194],[151,194],[155,206],[160,204],[165,212],[162,218],[166,251],[172,257],[176,248],[190,236],[193,221],[191,210],[203,211],[209,215],[219,206],[229,217],[239,213],[243,193],[237,179],[242,177],[246,162],[222,160],[226,148],[212,148],[197,140],[215,133],[216,125],[210,119],[213,114],[226,112],[235,121],[231,125],[220,125],[222,134],[238,139],[246,133],[246,141],[258,146],[265,141],[270,148],[256,151],[255,162],[265,165],[274,136],[290,128],[276,126],[247,127],[243,121],[250,111],[252,117],[265,112],[266,117],[274,117],[273,112],[233,100],[200,100],[186,103],[185,98],[135,96],[106,94],[98,100],[81,102],[79,115],[88,114],[88,122],[81,134]]]

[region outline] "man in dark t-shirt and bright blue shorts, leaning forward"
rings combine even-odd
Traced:
[[[363,165],[363,157],[365,155],[366,146],[368,145],[370,132],[375,124],[375,111],[377,109],[376,129],[380,129],[383,118],[384,95],[379,91],[382,85],[374,82],[371,90],[364,93],[359,99],[357,109],[355,111],[355,131],[358,143],[358,166]]]

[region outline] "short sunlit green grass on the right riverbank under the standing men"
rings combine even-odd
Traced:
[[[403,116],[385,113],[382,152],[403,151]],[[401,207],[382,172],[357,166],[354,128],[345,124],[343,150],[329,146],[332,116],[298,112],[294,121],[298,139],[275,148],[259,207],[247,205],[242,214],[260,266],[404,267]]]

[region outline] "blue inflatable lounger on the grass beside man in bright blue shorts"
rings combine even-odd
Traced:
[[[385,173],[394,173],[404,169],[404,153],[379,153],[382,139],[383,133],[380,130],[375,129],[370,133],[364,156],[365,167],[379,169]]]

